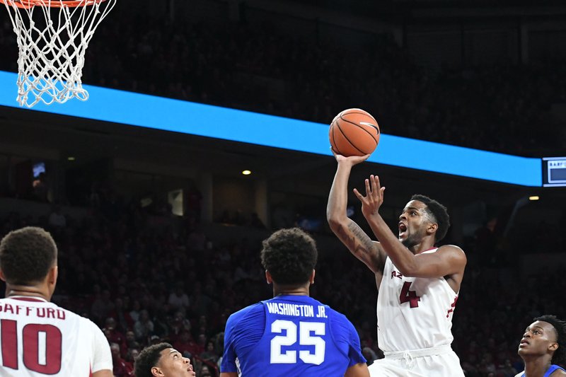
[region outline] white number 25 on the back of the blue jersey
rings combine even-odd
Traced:
[[[277,335],[271,340],[271,364],[296,364],[296,351],[287,350],[282,352],[283,346],[292,346],[297,342],[297,326],[290,320],[275,320],[271,324],[271,332],[281,334],[283,330],[286,335]],[[312,336],[311,332],[315,335]],[[306,364],[323,364],[326,342],[324,323],[321,322],[299,322],[299,345],[314,346],[314,353],[306,350],[299,351],[299,359]]]

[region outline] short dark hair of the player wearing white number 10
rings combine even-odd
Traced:
[[[57,260],[57,245],[42,228],[11,231],[0,242],[0,269],[8,284],[41,282]]]

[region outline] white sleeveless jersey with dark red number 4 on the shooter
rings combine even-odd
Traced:
[[[444,277],[404,277],[388,257],[377,296],[379,348],[398,352],[451,344],[457,298]]]

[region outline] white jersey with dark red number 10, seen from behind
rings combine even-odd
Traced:
[[[0,299],[0,346],[2,377],[89,377],[112,371],[103,332],[42,298]]]

